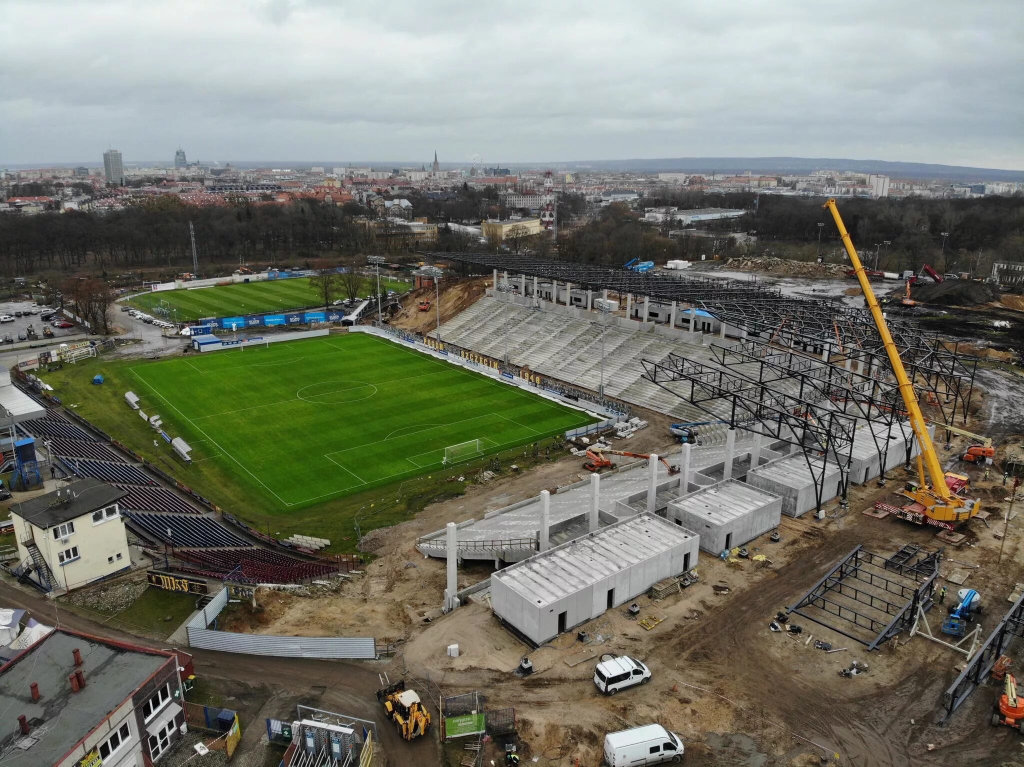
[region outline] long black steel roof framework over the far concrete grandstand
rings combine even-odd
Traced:
[[[570,283],[585,290],[608,290],[620,296],[649,296],[658,302],[682,303],[703,309],[737,330],[744,338],[812,350],[824,361],[851,359],[869,377],[890,375],[878,329],[866,309],[835,301],[785,296],[756,282],[721,278],[680,278],[638,273],[590,264],[562,263],[534,256],[495,253],[423,252],[427,258],[455,260],[485,269]],[[943,420],[952,423],[959,413],[967,422],[974,392],[977,358],[926,331],[912,319],[890,317],[890,331],[900,357],[915,385],[934,394]]]

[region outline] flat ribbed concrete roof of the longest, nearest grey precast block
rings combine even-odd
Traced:
[[[498,570],[492,578],[544,606],[692,538],[688,530],[644,513]]]

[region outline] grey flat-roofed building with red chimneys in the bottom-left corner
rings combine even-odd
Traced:
[[[4,764],[148,767],[185,731],[186,657],[50,631],[0,667]]]

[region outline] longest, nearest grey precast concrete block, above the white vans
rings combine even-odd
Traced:
[[[639,514],[524,559],[490,577],[490,606],[535,645],[696,566],[699,539]]]

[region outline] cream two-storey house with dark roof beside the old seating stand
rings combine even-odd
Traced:
[[[118,506],[127,495],[84,478],[11,506],[19,574],[46,591],[72,591],[130,566]]]

